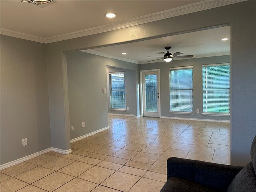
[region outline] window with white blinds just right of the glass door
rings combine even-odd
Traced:
[[[193,66],[170,68],[170,113],[175,112],[193,113]]]

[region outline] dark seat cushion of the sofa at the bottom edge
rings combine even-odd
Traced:
[[[218,190],[209,188],[198,183],[177,178],[171,177],[164,184],[160,192],[217,192]]]

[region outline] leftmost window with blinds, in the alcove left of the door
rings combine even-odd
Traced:
[[[110,108],[126,109],[124,72],[109,73]]]

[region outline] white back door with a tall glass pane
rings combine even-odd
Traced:
[[[140,71],[142,116],[160,117],[160,70]]]

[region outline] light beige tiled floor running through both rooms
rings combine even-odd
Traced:
[[[109,129],[1,170],[2,192],[158,192],[166,160],[229,164],[230,124],[109,115]]]

